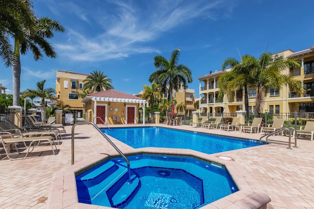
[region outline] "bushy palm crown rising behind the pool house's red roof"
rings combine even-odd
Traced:
[[[99,71],[95,71],[93,70],[92,73],[90,73],[91,75],[88,75],[86,77],[85,80],[83,80],[83,82],[86,82],[84,84],[84,88],[83,90],[89,90],[90,88],[92,88],[93,92],[100,92],[108,89],[113,89],[113,86],[111,85],[112,81],[111,79],[107,78],[106,75],[104,75],[104,72]]]

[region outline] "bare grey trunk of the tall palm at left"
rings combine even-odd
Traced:
[[[14,56],[12,67],[13,105],[20,106],[21,62],[20,57]]]

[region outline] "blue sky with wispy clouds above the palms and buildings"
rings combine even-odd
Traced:
[[[58,56],[34,61],[21,56],[21,92],[46,79],[55,88],[56,70],[101,70],[115,90],[138,93],[151,85],[154,57],[169,60],[179,47],[179,64],[198,77],[221,70],[228,57],[259,57],[314,45],[313,0],[36,0],[38,17],[50,17],[66,31],[50,43]],[[12,69],[0,65],[0,83],[12,93]]]

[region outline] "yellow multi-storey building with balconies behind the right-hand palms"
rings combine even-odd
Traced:
[[[294,79],[299,80],[306,88],[305,95],[298,97],[288,86],[283,86],[281,90],[271,88],[263,102],[263,110],[267,113],[293,113],[293,112],[314,112],[314,46],[309,49],[294,52],[290,49],[273,54],[273,59],[291,58],[301,62],[300,69],[285,69],[283,74],[290,74]],[[218,100],[218,78],[222,73],[231,69],[219,70],[206,74],[198,78],[200,81],[200,112],[206,114],[235,113],[244,109],[244,93],[235,92],[234,100],[228,102],[226,96],[223,101]],[[253,113],[256,102],[256,87],[248,87],[249,110]]]

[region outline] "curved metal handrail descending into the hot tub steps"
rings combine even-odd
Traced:
[[[77,125],[83,125],[83,124],[91,124],[93,125],[99,133],[105,137],[105,139],[113,146],[113,148],[120,154],[120,156],[127,162],[128,166],[128,175],[129,175],[129,180],[128,183],[131,183],[131,169],[130,169],[130,161],[128,158],[120,151],[120,149],[97,127],[97,125],[93,122],[76,122],[73,127],[72,127],[72,149],[71,149],[71,165],[74,164],[74,128]]]

